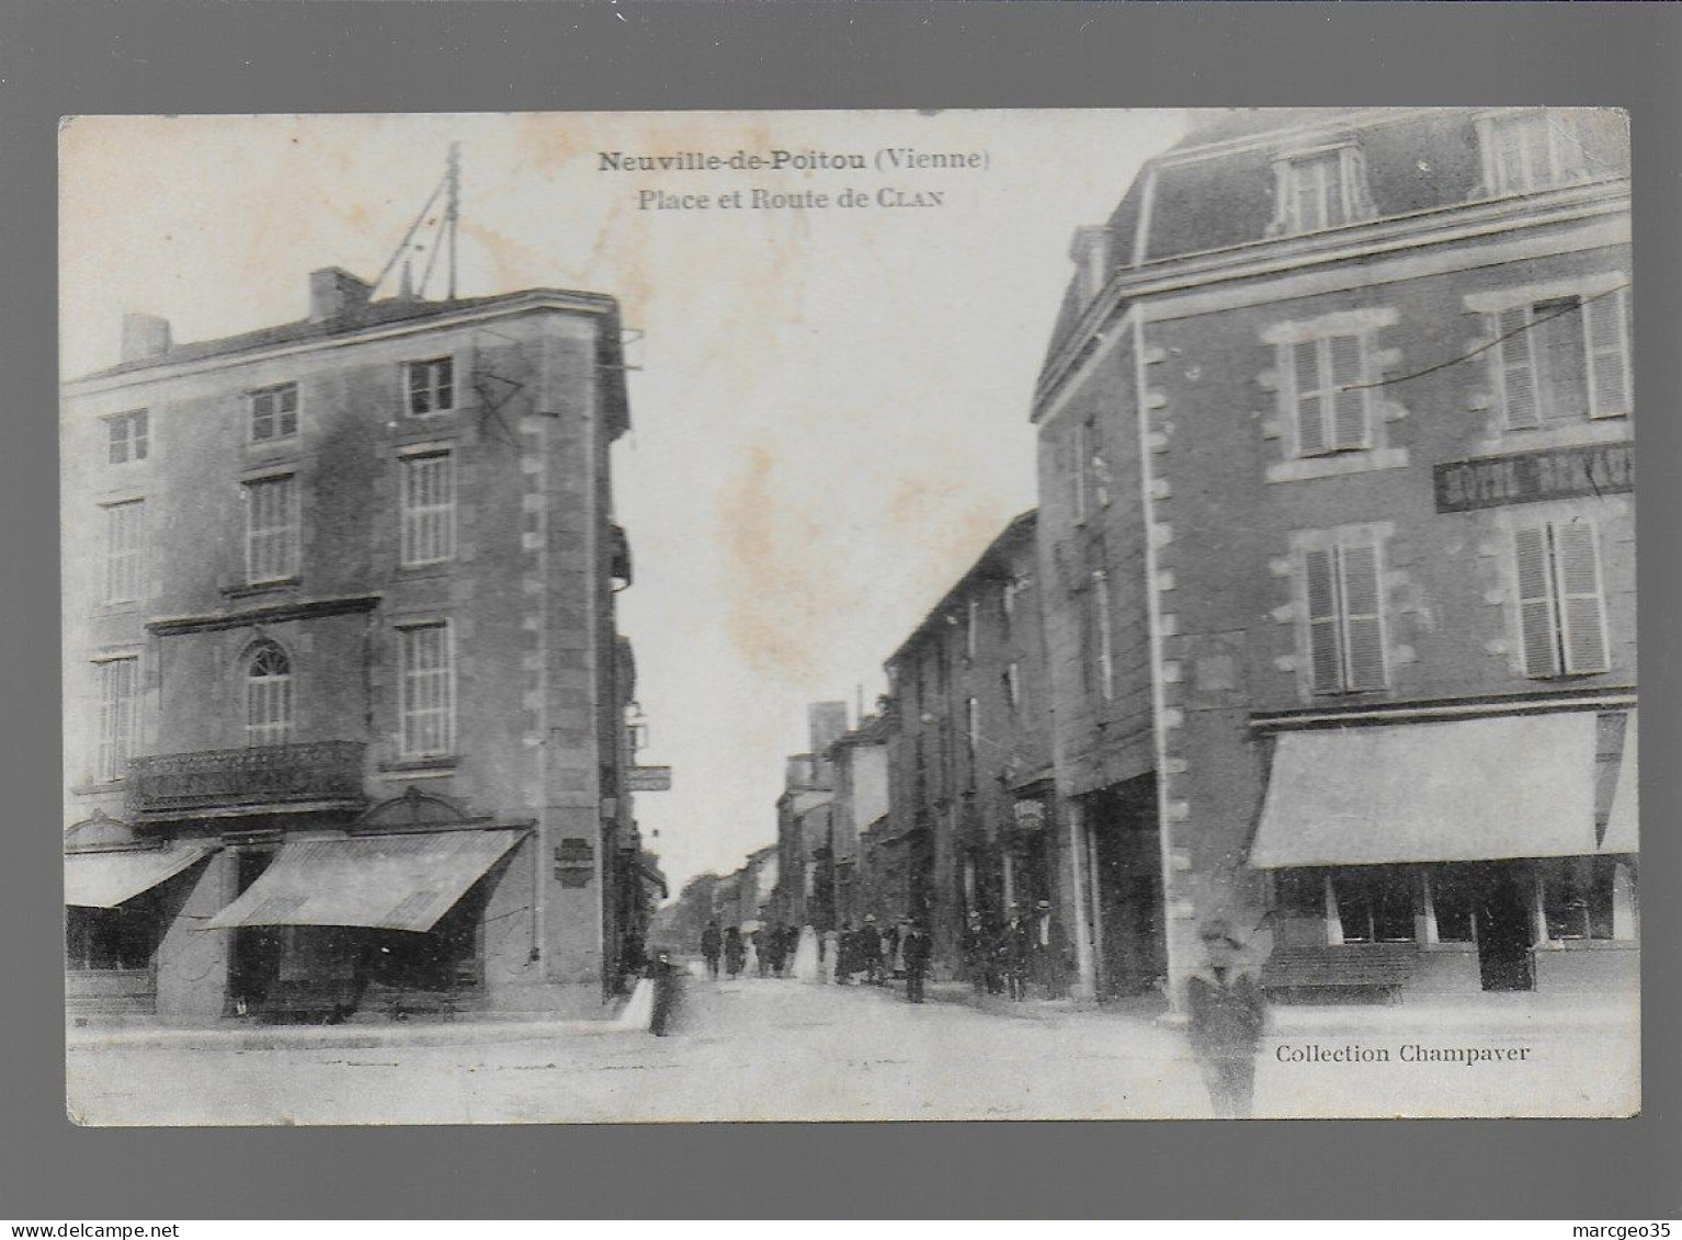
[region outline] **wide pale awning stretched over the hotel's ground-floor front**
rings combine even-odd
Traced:
[[[1250,863],[1487,861],[1595,851],[1595,715],[1285,732]]]

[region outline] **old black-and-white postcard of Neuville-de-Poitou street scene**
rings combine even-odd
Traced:
[[[61,156],[77,1122],[1640,1110],[1626,114]]]

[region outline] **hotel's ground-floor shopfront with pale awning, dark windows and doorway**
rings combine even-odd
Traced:
[[[1278,999],[1637,984],[1635,712],[1285,732],[1250,863]]]

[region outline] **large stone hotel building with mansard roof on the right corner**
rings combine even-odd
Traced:
[[[1625,126],[1236,114],[1078,234],[1034,421],[1100,988],[1177,1001],[1211,917],[1280,993],[1633,984]]]

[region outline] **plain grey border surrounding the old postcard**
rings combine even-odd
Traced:
[[[82,1131],[57,961],[54,138],[66,113],[1559,103],[1635,114],[1637,368],[1677,407],[1663,5],[0,2],[0,1216],[1679,1213],[1675,419],[1640,427],[1645,1114],[1626,1122]],[[1048,308],[1048,315],[1050,315]]]

